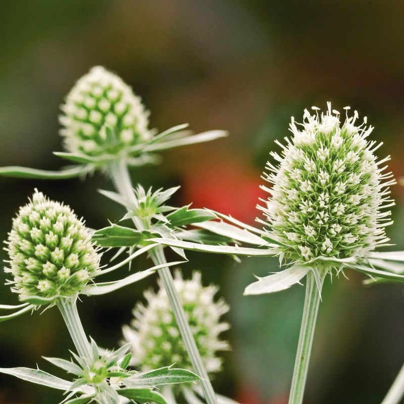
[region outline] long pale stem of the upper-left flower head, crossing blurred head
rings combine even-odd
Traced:
[[[111,177],[118,192],[128,201],[137,204],[136,195],[133,191],[132,182],[129,176],[128,168],[124,160],[112,163],[110,166]],[[138,230],[144,229],[143,223],[139,218],[133,218],[133,222]],[[155,265],[167,263],[163,247],[157,246],[150,252],[150,257]],[[162,268],[158,270],[164,289],[166,290],[168,299],[170,301],[175,320],[177,322],[182,340],[188,352],[189,359],[195,373],[201,377],[200,384],[204,391],[204,396],[208,404],[217,404],[217,398],[212,384],[209,380],[208,373],[205,369],[202,358],[200,357],[198,348],[189,327],[188,320],[181,300],[178,296],[177,290],[174,286],[174,280],[169,268]]]

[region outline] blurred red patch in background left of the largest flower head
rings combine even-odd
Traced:
[[[184,176],[184,199],[192,201],[193,208],[214,209],[246,223],[260,216],[258,198],[268,196],[260,188],[261,173],[237,161],[193,168]]]

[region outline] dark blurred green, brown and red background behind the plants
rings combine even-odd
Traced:
[[[0,4],[0,165],[58,169],[59,105],[93,65],[115,71],[140,94],[160,130],[189,122],[195,131],[227,129],[230,136],[164,154],[161,166],[133,170],[135,182],[181,184],[177,206],[193,202],[253,224],[262,196],[261,171],[275,138],[288,135],[290,116],[304,108],[346,105],[368,116],[379,155],[404,175],[404,3],[368,0],[106,1],[4,0]],[[98,194],[107,178],[65,181],[0,179],[0,234],[38,187],[64,200],[92,228],[122,210]],[[388,234],[404,247],[404,188],[393,187],[395,224]],[[6,259],[4,251],[2,259]],[[304,288],[242,296],[253,274],[276,260],[188,254],[184,273],[203,271],[231,306],[224,370],[218,392],[248,404],[287,402]],[[144,260],[137,265],[148,265]],[[125,270],[124,270],[125,271]],[[364,287],[346,271],[323,293],[309,372],[307,404],[379,403],[404,362],[404,287]],[[0,304],[15,301],[0,276]],[[84,327],[101,346],[114,347],[121,325],[156,278],[121,293],[83,298]],[[56,309],[0,325],[0,367],[56,372],[41,356],[67,357],[72,343]],[[65,377],[63,373],[60,376]],[[53,403],[59,391],[0,376],[0,402]]]

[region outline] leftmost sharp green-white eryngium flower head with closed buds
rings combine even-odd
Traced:
[[[99,255],[83,221],[37,190],[13,219],[6,244],[12,290],[22,299],[74,294],[98,271]]]

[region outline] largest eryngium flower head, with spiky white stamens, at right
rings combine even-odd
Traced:
[[[259,207],[267,218],[262,223],[279,241],[281,257],[360,260],[389,240],[384,227],[392,223],[390,212],[382,212],[394,205],[388,186],[395,181],[383,183],[392,175],[382,174],[389,157],[377,161],[381,143],[367,139],[373,127],[366,127],[366,117],[357,126],[356,111],[340,123],[330,103],[325,114],[313,109],[314,115],[305,110],[302,124],[292,117],[292,138],[278,142],[281,155],[271,153],[279,164],[268,163],[264,173],[273,187],[262,187],[271,194]]]

